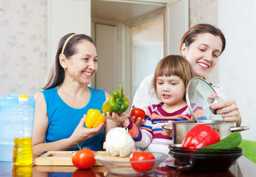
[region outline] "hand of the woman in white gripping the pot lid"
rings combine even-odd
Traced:
[[[236,126],[241,124],[241,116],[235,100],[227,100],[210,107],[216,109],[217,114],[221,114],[225,122],[237,122]]]

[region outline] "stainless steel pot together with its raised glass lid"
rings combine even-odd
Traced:
[[[236,127],[236,122],[224,122],[221,114],[216,114],[215,110],[211,110],[210,106],[212,104],[217,104],[219,101],[222,101],[218,96],[213,98],[213,93],[216,94],[215,90],[202,78],[195,77],[189,81],[186,89],[186,101],[189,112],[194,120],[174,121],[173,124],[162,126],[164,130],[172,132],[174,144],[182,143],[189,130],[197,124],[204,123],[212,126],[213,129],[219,132],[221,140],[232,132],[241,132],[249,129],[247,126]],[[207,120],[197,120],[198,117],[195,116],[194,110],[196,111],[199,107],[203,109]]]

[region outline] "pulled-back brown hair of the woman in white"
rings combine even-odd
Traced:
[[[180,54],[182,54],[182,44],[185,43],[187,47],[192,44],[195,40],[197,35],[203,33],[210,33],[212,35],[218,36],[221,38],[222,41],[222,50],[221,53],[225,50],[226,47],[226,39],[221,30],[219,28],[214,27],[210,24],[197,24],[191,27],[182,37],[182,41],[180,42]]]

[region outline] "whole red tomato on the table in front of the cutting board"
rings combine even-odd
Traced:
[[[72,155],[72,163],[80,169],[91,168],[95,162],[94,152],[91,149],[78,150]]]

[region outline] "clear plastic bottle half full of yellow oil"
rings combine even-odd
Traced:
[[[14,165],[31,165],[33,161],[32,130],[34,109],[28,104],[28,96],[20,95],[14,108]]]

